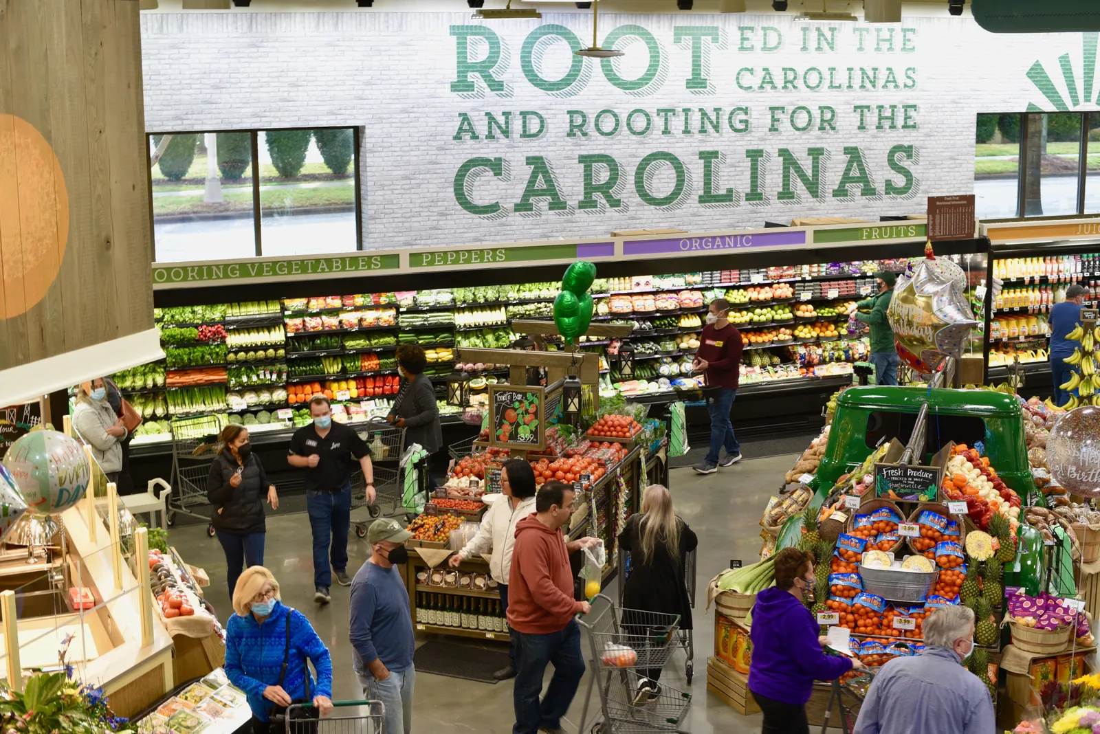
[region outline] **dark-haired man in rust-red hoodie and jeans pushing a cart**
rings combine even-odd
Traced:
[[[508,576],[508,626],[516,640],[516,682],[513,693],[516,725],[513,734],[563,734],[561,718],[569,711],[584,675],[581,629],[573,619],[587,614],[586,601],[573,599],[569,554],[598,543],[582,537],[565,543],[561,529],[573,514],[573,488],[548,481],[535,497],[535,514],[516,524],[516,545]],[[553,663],[547,694],[542,674]]]

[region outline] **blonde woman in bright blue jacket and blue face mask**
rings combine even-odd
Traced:
[[[251,566],[241,574],[233,590],[233,611],[226,625],[226,675],[249,697],[253,734],[277,734],[270,723],[276,707],[312,701],[320,715],[327,716],[332,711],[329,650],[305,614],[279,601],[278,581],[270,570]],[[316,680],[306,660],[314,664]],[[277,726],[277,732],[284,731],[282,724]]]

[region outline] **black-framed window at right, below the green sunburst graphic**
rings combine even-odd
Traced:
[[[975,194],[982,219],[1098,212],[1100,184],[1090,170],[1100,170],[1100,114],[978,115]]]

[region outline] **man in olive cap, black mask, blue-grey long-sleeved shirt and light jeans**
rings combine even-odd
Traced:
[[[371,523],[371,557],[351,583],[352,667],[363,698],[385,704],[386,734],[409,734],[413,729],[416,644],[409,594],[395,568],[408,560],[404,543],[411,536],[389,518]]]

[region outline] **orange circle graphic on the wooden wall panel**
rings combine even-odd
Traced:
[[[34,308],[61,271],[68,242],[65,175],[46,138],[0,114],[0,318]]]

